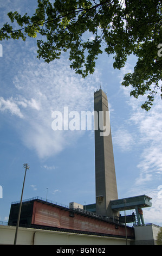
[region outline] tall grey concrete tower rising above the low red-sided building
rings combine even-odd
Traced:
[[[100,89],[94,93],[94,111],[98,113],[95,119],[95,185],[96,185],[96,214],[113,217],[110,200],[118,199],[116,186],[115,164],[110,123],[106,121],[108,111],[107,95]],[[106,113],[107,112],[107,113]],[[103,127],[100,126],[103,113]],[[96,127],[98,126],[98,130]],[[109,127],[107,127],[109,126]],[[100,130],[101,129],[101,130]],[[108,134],[106,131],[108,131]],[[106,136],[104,136],[106,135]]]

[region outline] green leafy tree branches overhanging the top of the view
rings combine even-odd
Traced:
[[[162,64],[162,4],[157,0],[37,0],[33,16],[8,13],[11,23],[0,30],[0,40],[36,38],[37,57],[49,63],[69,53],[70,68],[86,77],[93,74],[98,55],[114,55],[114,69],[125,66],[134,54],[134,72],[125,74],[122,85],[131,95],[147,94],[142,108],[151,108],[159,91]],[[88,38],[90,33],[92,36]],[[161,49],[161,50],[160,50]],[[162,86],[161,86],[162,98]]]

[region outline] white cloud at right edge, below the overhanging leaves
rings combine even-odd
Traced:
[[[157,97],[155,105],[149,112],[134,107],[130,119],[138,127],[138,145],[142,147],[142,154],[137,166],[140,170],[140,178],[137,179],[138,184],[158,179],[159,175],[162,174],[161,111],[161,100]]]

